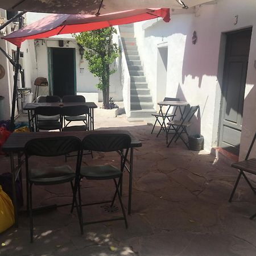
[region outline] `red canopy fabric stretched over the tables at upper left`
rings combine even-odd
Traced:
[[[99,28],[139,22],[162,17],[170,21],[170,9],[138,9],[117,13],[96,15],[52,14],[21,28],[2,38],[20,47],[27,39],[48,38],[49,36],[97,30]]]

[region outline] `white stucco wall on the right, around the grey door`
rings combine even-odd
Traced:
[[[238,22],[234,24],[235,15]],[[255,67],[256,60],[256,1],[218,0],[211,5],[196,7],[195,13],[172,15],[170,23],[159,21],[147,27],[147,22],[135,24],[135,36],[143,62],[148,86],[156,104],[156,79],[158,44],[168,45],[166,96],[179,97],[191,105],[200,105],[201,134],[205,148],[216,146],[220,114],[223,54],[221,35],[224,32],[253,27],[249,63],[247,69],[243,129],[240,158],[244,158],[256,131],[255,114]],[[193,31],[197,43],[192,44]],[[222,38],[223,39],[223,38]],[[225,44],[224,44],[225,46]],[[220,55],[221,49],[221,55]],[[199,130],[199,127],[194,127]],[[254,150],[254,155],[256,151]]]

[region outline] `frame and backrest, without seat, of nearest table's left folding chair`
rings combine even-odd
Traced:
[[[74,195],[75,187],[73,185],[73,180],[75,180],[75,177],[79,172],[80,147],[81,147],[80,139],[73,136],[37,138],[37,139],[31,139],[26,143],[24,152],[25,152],[25,159],[26,159],[27,211],[30,217],[30,242],[31,243],[33,242],[32,212],[36,210],[36,209],[32,209],[32,185],[33,184],[34,185],[56,185],[56,184],[70,182],[71,189]],[[69,173],[65,174],[63,172],[60,174],[60,176],[56,176],[56,174],[50,176],[49,173],[46,172],[45,174],[41,174],[39,175],[39,177],[36,177],[36,178],[30,177],[29,168],[28,168],[28,159],[30,158],[30,156],[34,155],[34,156],[40,156],[40,157],[49,157],[49,156],[55,157],[55,156],[64,155],[73,151],[77,151],[76,170],[74,171],[73,175]],[[54,167],[52,168],[53,169],[51,171],[54,171]],[[77,214],[79,214],[77,201],[75,197],[73,197],[73,201],[71,204],[57,205],[57,207],[66,206],[66,205],[72,205],[71,210],[73,210],[75,205],[77,209]]]

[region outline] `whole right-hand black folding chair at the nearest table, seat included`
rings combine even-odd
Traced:
[[[93,150],[100,152],[111,152],[111,151],[119,151],[121,152],[121,166],[120,168],[114,167],[112,165],[101,165],[101,166],[81,166],[80,158],[80,175],[76,179],[76,188],[78,188],[79,193],[79,216],[80,216],[80,226],[81,232],[84,232],[84,225],[105,222],[105,221],[114,221],[114,220],[124,220],[125,226],[128,228],[125,209],[123,208],[122,198],[120,195],[119,187],[122,182],[123,169],[125,168],[125,163],[127,159],[127,154],[131,145],[131,138],[127,134],[120,133],[102,133],[102,134],[89,134],[82,141],[82,150]],[[90,203],[83,204],[81,203],[81,192],[80,192],[80,180],[82,177],[85,177],[88,180],[110,180],[112,179],[115,184],[115,194],[112,200],[103,201],[100,203]],[[118,179],[118,181],[116,180]],[[82,206],[84,205],[94,205],[101,203],[111,203],[110,207],[113,207],[115,197],[118,196],[119,203],[122,208],[123,217],[111,218],[108,220],[100,220],[100,221],[91,221],[91,222],[83,222],[82,218]]]

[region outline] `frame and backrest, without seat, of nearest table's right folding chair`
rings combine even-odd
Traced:
[[[118,151],[121,152],[121,166],[119,169],[119,173],[115,175],[109,175],[109,176],[88,176],[88,175],[82,175],[81,174],[81,160],[82,160],[82,150],[80,154],[80,173],[79,176],[77,176],[76,179],[76,185],[75,185],[75,191],[78,189],[79,194],[79,218],[80,218],[80,227],[81,227],[81,233],[84,233],[84,225],[89,224],[95,224],[100,222],[106,222],[106,221],[115,221],[115,220],[124,220],[125,226],[128,228],[125,209],[123,207],[122,198],[121,198],[121,189],[122,189],[122,175],[123,170],[125,168],[125,163],[127,159],[127,155],[129,152],[131,144],[131,138],[127,134],[90,134],[86,136],[82,141],[82,150],[92,150],[92,151],[99,151],[99,152],[112,152],[112,151]],[[124,152],[125,151],[125,152]],[[123,154],[124,152],[124,154]],[[98,166],[93,166],[98,167]],[[106,166],[109,168],[109,166]],[[89,168],[89,167],[86,167]],[[111,167],[110,167],[111,168]],[[115,168],[115,167],[114,167]],[[115,169],[118,170],[118,169]],[[90,204],[82,204],[81,203],[81,192],[80,192],[80,180],[82,177],[85,177],[86,179],[90,180],[110,180],[113,179],[114,185],[115,185],[115,193],[112,200],[108,201],[101,201],[97,203],[90,203]],[[118,179],[118,181],[116,180]],[[119,189],[120,188],[120,189]],[[95,204],[104,204],[104,203],[111,203],[110,207],[113,206],[115,197],[118,196],[119,203],[121,205],[123,217],[117,217],[117,218],[110,218],[108,220],[99,220],[99,221],[91,221],[91,222],[84,222],[82,218],[82,206],[88,206],[88,205],[95,205]]]

